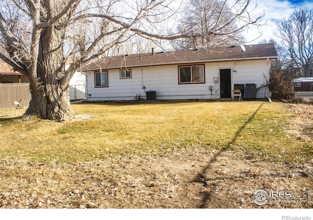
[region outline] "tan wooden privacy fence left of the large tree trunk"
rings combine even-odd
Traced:
[[[28,107],[30,101],[29,83],[0,83],[0,110],[15,108],[14,101]]]

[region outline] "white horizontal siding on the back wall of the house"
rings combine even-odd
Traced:
[[[205,64],[205,84],[179,84],[179,65],[146,66],[131,68],[132,78],[120,79],[119,69],[108,70],[109,87],[95,88],[93,72],[87,72],[87,98],[90,101],[133,100],[136,94],[145,98],[145,91],[155,90],[156,99],[215,99],[220,98],[219,77],[221,68],[231,68],[233,84],[263,85],[268,78],[267,60],[237,62],[215,62]],[[103,69],[104,70],[104,69]],[[145,87],[145,89],[143,88]],[[212,86],[212,90],[209,90]],[[257,98],[262,98],[268,90],[260,89]]]

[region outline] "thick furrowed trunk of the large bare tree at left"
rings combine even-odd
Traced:
[[[62,1],[49,1],[50,8],[58,13],[58,8],[62,8]],[[62,2],[66,4],[66,1]],[[66,122],[74,116],[69,103],[68,83],[62,80],[65,76],[65,58],[63,53],[63,42],[66,32],[67,17],[61,19],[60,25],[51,25],[41,30],[38,47],[37,71],[28,72],[34,74],[29,77],[31,85],[31,101],[26,110],[26,117],[39,115],[43,119],[58,120]]]

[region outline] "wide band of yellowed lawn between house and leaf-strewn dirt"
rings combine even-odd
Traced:
[[[1,117],[0,157],[70,163],[205,148],[286,163],[312,158],[312,145],[286,132],[294,114],[282,103],[76,104],[73,109],[90,118],[60,124]]]

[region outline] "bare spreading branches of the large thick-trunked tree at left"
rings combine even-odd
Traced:
[[[201,25],[203,26],[198,29],[192,27],[194,22],[189,17],[186,18],[189,23],[184,22],[179,25],[179,32],[173,33],[172,31],[169,33],[162,30],[161,26],[156,25],[156,23],[164,22],[173,17],[174,12],[178,13],[173,6],[175,3],[173,0],[142,0],[135,3],[117,0],[90,2],[81,0],[4,0],[0,12],[0,30],[2,46],[7,53],[3,54],[2,52],[2,57],[9,58],[11,62],[17,65],[15,67],[25,69],[25,66],[21,64],[29,66],[32,62],[30,57],[33,55],[29,49],[32,45],[31,42],[34,41],[33,35],[36,29],[42,32],[53,26],[61,28],[62,25],[64,25],[67,33],[64,39],[65,50],[67,50],[65,54],[70,55],[70,59],[78,62],[79,65],[102,56],[114,44],[125,41],[125,37],[129,35],[140,35],[149,39],[165,41],[177,39],[194,41],[195,39],[213,39],[219,36],[220,39],[236,39],[235,41],[242,42],[244,38],[240,31],[247,25],[255,24],[259,19],[251,20],[248,16],[246,8],[250,1],[241,1],[241,3],[236,3],[230,8],[227,0],[214,0],[210,5],[212,8],[209,10],[211,11],[205,11],[207,8],[201,7],[204,7],[204,4],[209,1],[191,0],[191,2],[202,5],[199,5],[198,8],[201,10],[200,12],[194,11],[191,15],[198,13],[200,16],[203,15],[204,17],[201,17]],[[215,6],[213,7],[213,5]],[[236,8],[235,6],[237,9],[232,10]],[[24,25],[22,30],[9,27],[8,22],[3,17],[3,14],[9,16],[7,12],[12,7],[18,12],[17,14],[23,14],[24,17],[22,20],[18,20],[16,14],[11,15],[11,19],[24,24],[28,23],[28,25]],[[55,8],[58,8],[57,13],[55,13]],[[125,8],[127,8],[127,12]],[[36,13],[38,13],[37,17]],[[245,21],[245,23],[239,26],[239,23],[236,23],[239,20]],[[209,22],[211,23],[209,24]],[[232,28],[229,27],[230,25]],[[23,32],[22,37],[21,32]],[[218,41],[215,43],[218,44]],[[79,48],[74,48],[76,45],[79,45]],[[79,59],[77,59],[78,57]]]

